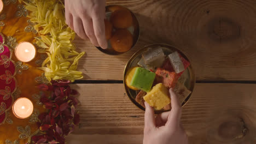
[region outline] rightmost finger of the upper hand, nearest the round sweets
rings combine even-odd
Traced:
[[[107,49],[108,44],[105,36],[104,17],[93,17],[92,23],[94,25],[94,33],[98,44],[102,47],[102,49]]]

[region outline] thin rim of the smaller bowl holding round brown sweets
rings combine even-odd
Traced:
[[[109,5],[106,5],[105,8],[112,7],[112,6],[118,6],[118,7],[126,8],[126,7],[124,7],[123,5],[119,5],[119,4],[109,4]],[[135,19],[136,19],[136,21],[137,21],[137,23],[138,23],[138,38],[136,39],[136,42],[135,42],[135,43],[133,44],[133,46],[131,47],[131,49],[132,49],[132,48],[135,47],[136,44],[138,43],[139,37],[141,37],[141,27],[139,26],[139,21],[138,21],[137,16],[136,16],[129,8],[126,8],[126,9],[131,12],[132,16],[135,17]],[[106,10],[105,10],[105,11],[106,11]],[[100,46],[95,46],[95,47],[96,47],[99,51],[101,51],[102,53],[105,53],[105,54],[110,55],[110,56],[122,55],[122,54],[124,54],[124,53],[126,53],[126,52],[129,52],[129,51],[131,50],[131,49],[130,49],[130,50],[126,51],[126,52],[106,53],[106,52],[104,52],[104,50],[106,50],[106,49],[102,49]]]

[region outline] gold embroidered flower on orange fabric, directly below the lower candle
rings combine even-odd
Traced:
[[[17,130],[19,131],[19,133],[21,133],[19,135],[19,139],[21,139],[21,140],[26,140],[27,139],[27,143],[30,143],[31,142],[31,137],[38,134],[38,132],[39,132],[39,129],[38,129],[38,130],[34,131],[33,134],[31,134],[30,125],[27,125],[25,127],[25,129],[22,126],[18,126]]]

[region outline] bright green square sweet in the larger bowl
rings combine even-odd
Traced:
[[[155,80],[155,73],[144,68],[136,68],[131,80],[131,86],[149,92]]]

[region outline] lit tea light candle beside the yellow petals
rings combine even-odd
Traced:
[[[16,58],[21,62],[30,62],[36,56],[36,47],[28,42],[21,42],[15,49]]]

